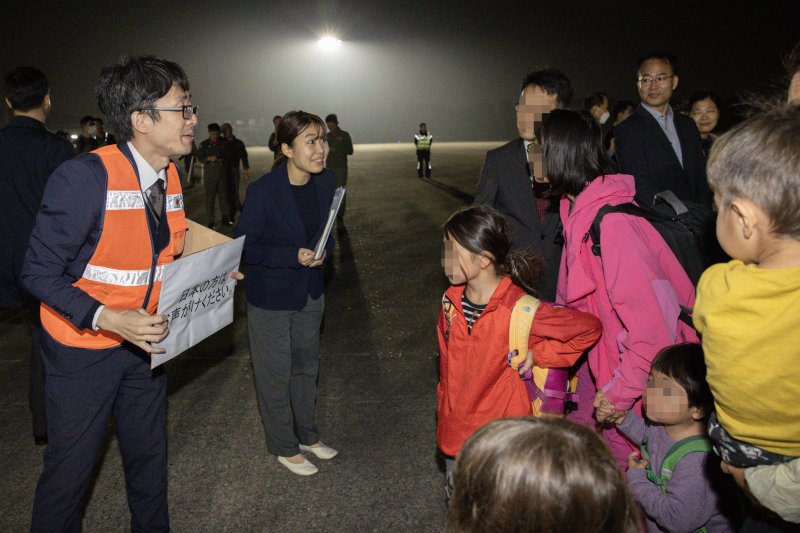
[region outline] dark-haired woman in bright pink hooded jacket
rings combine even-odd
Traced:
[[[565,248],[556,301],[603,324],[600,342],[588,355],[591,377],[586,363],[577,369],[578,410],[571,418],[594,426],[595,408],[612,413],[598,422],[624,470],[636,448],[607,422],[629,409],[642,414],[650,364],[659,350],[697,342],[694,330],[678,319],[681,305],[694,305],[694,286],[658,231],[639,217],[607,215],[600,234],[602,258],[592,253],[588,232],[597,211],[633,202],[635,190],[633,176],[612,173],[591,115],[556,109],[541,137],[544,165],[534,165],[534,179],[562,195]]]

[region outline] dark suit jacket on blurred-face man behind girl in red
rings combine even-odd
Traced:
[[[541,254],[544,273],[539,293],[543,299],[553,301],[564,247],[559,198],[551,199],[542,224],[524,146],[522,139],[517,139],[486,153],[475,203],[491,205],[505,216],[513,249],[530,248]]]

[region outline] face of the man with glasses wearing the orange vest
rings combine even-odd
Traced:
[[[189,92],[173,85],[167,94],[155,101],[153,107],[180,107],[191,103]],[[159,111],[159,115],[161,118],[157,121],[147,115],[139,117],[146,122],[147,133],[143,136],[137,135],[136,139],[149,145],[154,153],[162,157],[190,153],[197,115],[192,115],[189,120],[183,118],[180,111]]]

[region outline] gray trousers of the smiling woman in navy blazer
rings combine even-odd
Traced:
[[[319,442],[314,424],[319,372],[319,328],[325,296],[299,311],[247,305],[250,358],[267,451],[291,457],[298,444]]]

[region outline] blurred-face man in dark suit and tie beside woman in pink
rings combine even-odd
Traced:
[[[513,249],[532,248],[542,257],[544,272],[539,293],[553,301],[561,250],[564,245],[558,197],[531,178],[527,153],[536,151],[535,132],[542,119],[557,107],[569,105],[572,84],[563,72],[544,69],[522,80],[517,111],[519,138],[486,153],[475,203],[491,205],[508,222]]]

